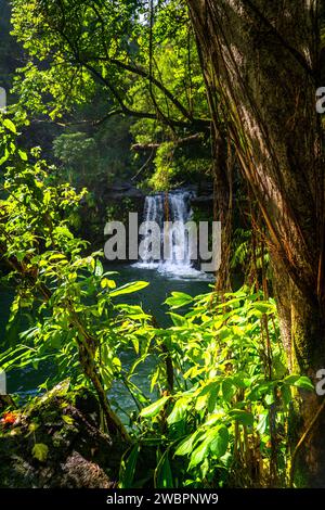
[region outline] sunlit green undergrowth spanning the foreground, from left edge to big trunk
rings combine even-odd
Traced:
[[[173,326],[157,328],[140,306],[120,304],[145,282],[118,286],[100,253],[83,255],[87,244],[69,229],[82,194],[55,187],[38,152],[22,152],[15,139],[16,128],[5,119],[0,250],[15,291],[8,329],[22,316],[30,328],[12,336],[0,355],[2,369],[51,360],[56,375],[42,388],[67,377],[72,387],[90,385],[103,426],[128,445],[122,487],[287,485],[295,387],[313,386],[287,373],[273,299],[253,289],[222,299],[214,292],[195,298],[174,292],[166,302]],[[129,350],[134,362],[126,367],[122,354]],[[133,377],[152,357],[145,391]],[[129,424],[109,399],[116,381],[134,399]],[[153,390],[159,394],[154,401]],[[156,450],[155,469],[140,481],[136,459],[146,447]]]

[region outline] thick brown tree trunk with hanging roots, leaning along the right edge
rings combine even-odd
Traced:
[[[324,161],[315,110],[318,2],[187,0],[211,115],[224,120],[268,229],[290,370],[325,368]],[[211,101],[210,101],[211,102]],[[301,398],[301,431],[320,408]],[[325,487],[324,412],[297,452],[299,485]]]

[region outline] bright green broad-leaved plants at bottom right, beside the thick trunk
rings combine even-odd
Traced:
[[[285,486],[291,405],[297,388],[313,385],[287,372],[274,301],[240,289],[222,301],[216,292],[173,292],[166,304],[173,326],[155,335],[171,359],[173,387],[140,413],[139,444],[157,447],[155,485]]]

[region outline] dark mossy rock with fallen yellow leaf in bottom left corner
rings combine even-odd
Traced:
[[[125,448],[100,431],[94,395],[87,388],[69,392],[64,382],[2,412],[0,487],[109,488]]]

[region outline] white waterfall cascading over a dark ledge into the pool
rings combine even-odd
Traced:
[[[195,278],[202,275],[193,267],[191,245],[186,224],[191,221],[191,191],[173,191],[146,196],[144,204],[144,222],[142,232],[143,256],[136,267],[157,269],[173,277]],[[166,221],[168,221],[166,226]],[[152,256],[153,222],[159,226],[160,237],[156,241],[160,257]],[[165,224],[165,230],[164,230]]]

